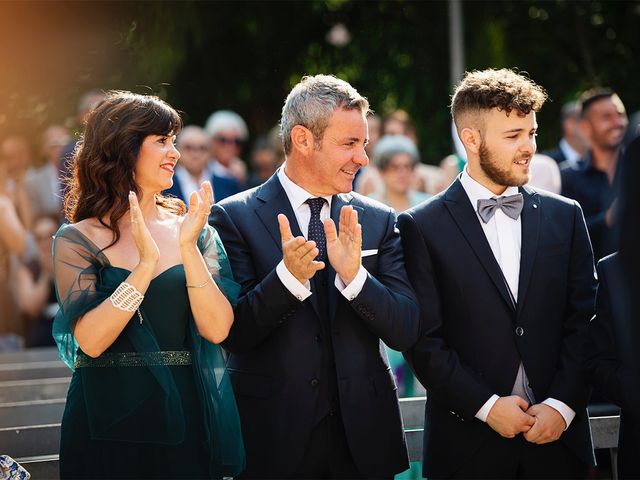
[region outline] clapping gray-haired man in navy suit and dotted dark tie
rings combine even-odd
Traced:
[[[224,347],[246,478],[408,467],[382,342],[415,343],[418,310],[393,211],[351,191],[369,162],[368,111],[347,82],[304,77],[282,109],[285,164],[213,208],[241,286]]]

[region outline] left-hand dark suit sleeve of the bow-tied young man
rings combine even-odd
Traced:
[[[429,395],[462,418],[473,419],[495,392],[461,363],[444,340],[441,299],[429,248],[410,214],[401,214],[398,225],[421,325],[420,339],[404,356]]]

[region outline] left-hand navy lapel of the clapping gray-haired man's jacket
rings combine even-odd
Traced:
[[[278,225],[278,214],[284,213],[289,220],[291,226],[291,233],[294,237],[302,235],[300,226],[296,220],[295,213],[287,193],[282,188],[280,180],[278,180],[277,173],[273,174],[269,180],[267,180],[257,193],[257,198],[262,202],[256,208],[256,214],[269,232],[271,239],[278,246],[278,250],[282,252],[282,241],[280,239],[280,227]]]

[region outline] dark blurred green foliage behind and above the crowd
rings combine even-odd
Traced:
[[[467,69],[515,67],[549,91],[541,147],[557,141],[562,103],[593,84],[640,108],[640,1],[464,1],[462,11]],[[333,73],[376,112],[407,110],[435,163],[452,148],[448,15],[445,1],[0,2],[0,128],[36,131],[71,116],[86,90],[125,88],[163,96],[186,123],[236,110],[255,138],[303,75]],[[339,24],[347,42],[330,38]]]

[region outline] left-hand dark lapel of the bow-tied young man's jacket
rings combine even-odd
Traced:
[[[482,230],[480,220],[471,206],[469,197],[464,191],[464,187],[460,180],[456,180],[451,184],[444,194],[444,204],[451,213],[453,220],[458,225],[460,232],[465,237],[469,246],[476,254],[478,261],[482,264],[489,277],[493,281],[500,295],[511,308],[515,310],[511,292],[507,286],[507,281],[502,274],[500,265],[491,251],[487,237]]]

